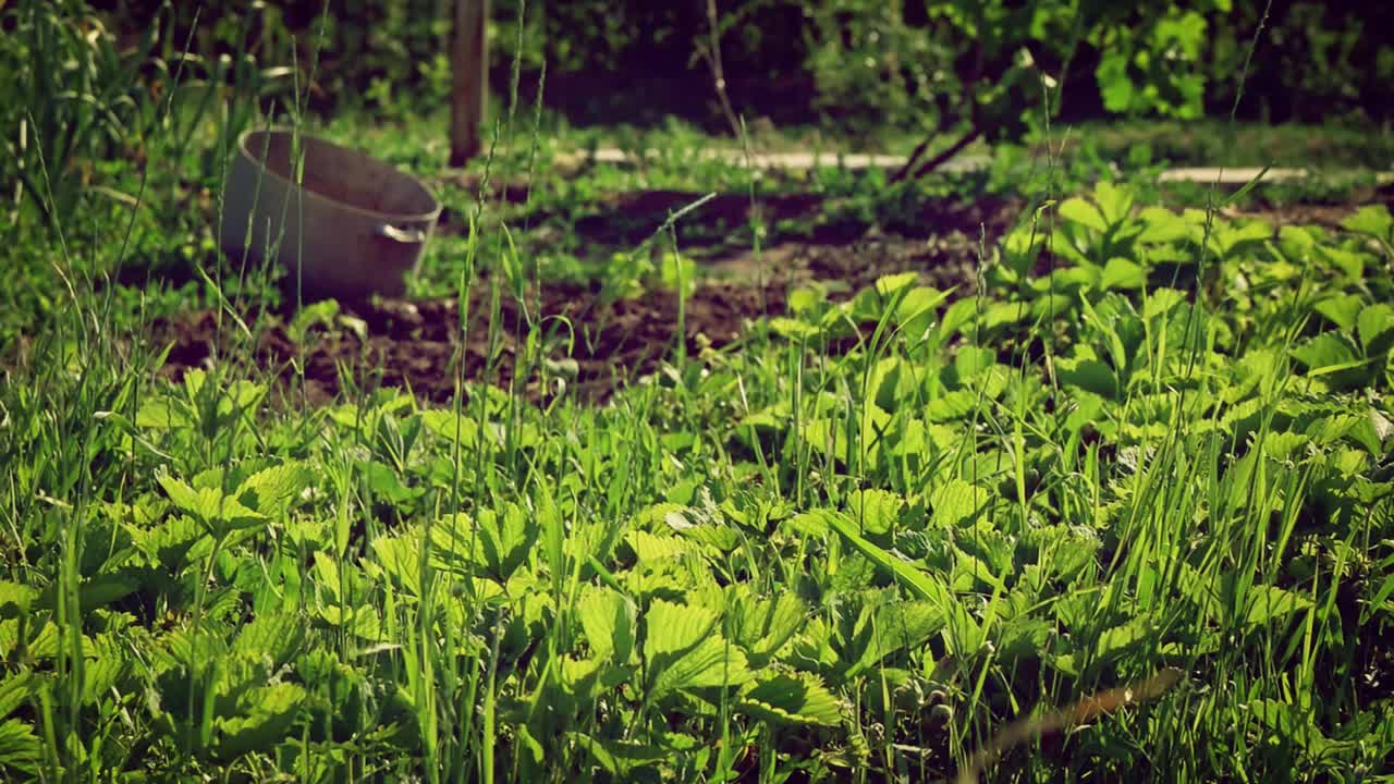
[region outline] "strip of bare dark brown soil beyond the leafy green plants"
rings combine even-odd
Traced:
[[[602,244],[618,247],[641,241],[654,230],[673,204],[686,194],[648,194],[620,199],[616,213],[623,225],[609,226],[597,220],[577,230],[594,233]],[[732,225],[749,199],[717,202],[717,209],[697,219]],[[810,205],[799,199],[772,206],[776,215],[796,215]],[[815,206],[815,205],[813,205]],[[979,261],[979,230],[986,226],[991,246],[1015,218],[1006,204],[988,206],[945,208],[926,215],[920,236],[863,232],[860,237],[845,233],[781,240],[767,247],[758,259],[749,250],[718,248],[703,259],[708,275],[686,303],[686,335],[690,353],[704,346],[721,349],[739,339],[747,324],[785,312],[785,297],[792,286],[810,279],[839,280],[841,296],[855,293],[878,276],[919,271],[926,283],[938,287],[959,286],[959,294],[972,292]],[[730,223],[728,223],[728,220]],[[717,280],[715,276],[728,278]],[[601,402],[627,381],[650,374],[671,356],[676,346],[677,297],[673,292],[650,290],[633,300],[605,301],[599,285],[545,285],[524,307],[512,297],[500,297],[499,318],[488,322],[487,285],[471,301],[470,328],[460,329],[459,306],[453,299],[375,301],[344,307],[344,314],[360,318],[365,339],[340,322],[315,326],[297,345],[287,324],[289,311],[244,314],[256,321],[255,364],[287,385],[304,368],[307,398],[314,403],[333,400],[344,386],[340,378],[362,388],[410,388],[424,400],[446,402],[454,395],[456,379],[487,378],[506,385],[516,372],[520,336],[528,324],[542,325],[544,359],[574,360],[572,393]],[[836,296],[836,294],[835,294]],[[565,319],[565,322],[563,322]],[[566,340],[574,329],[574,343],[567,353]],[[162,375],[178,379],[191,367],[210,361],[229,361],[248,356],[245,335],[236,340],[234,326],[213,311],[185,314],[155,325],[156,343],[171,346]],[[489,357],[493,357],[491,361]],[[220,360],[215,359],[220,357]],[[463,365],[461,365],[463,363]],[[535,364],[535,363],[534,363]],[[555,374],[552,374],[555,375]],[[523,379],[527,396],[539,399],[555,389],[541,389],[534,368]]]

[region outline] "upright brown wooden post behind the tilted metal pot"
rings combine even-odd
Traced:
[[[454,0],[450,166],[464,166],[480,153],[480,128],[484,126],[484,106],[489,95],[489,46],[484,35],[488,18],[489,0]]]

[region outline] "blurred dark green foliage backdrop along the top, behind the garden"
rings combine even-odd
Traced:
[[[63,211],[54,181],[88,181],[103,160],[184,166],[185,152],[204,151],[210,172],[272,106],[439,112],[452,8],[0,1],[0,183],[15,183],[14,202],[28,191]],[[506,100],[517,66],[527,100],[545,63],[544,103],[573,126],[675,116],[733,133],[711,67],[719,56],[733,113],[753,124],[852,140],[902,130],[945,153],[1023,138],[1047,100],[1058,121],[1225,117],[1264,10],[1253,0],[492,0],[491,81]],[[1387,131],[1394,4],[1274,0],[1243,96],[1241,119]],[[223,149],[190,144],[209,116]],[[144,141],[156,138],[176,149]]]

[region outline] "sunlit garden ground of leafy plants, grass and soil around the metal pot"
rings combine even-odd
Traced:
[[[138,106],[0,248],[7,778],[1394,776],[1387,193],[347,119],[447,216],[291,308]]]

